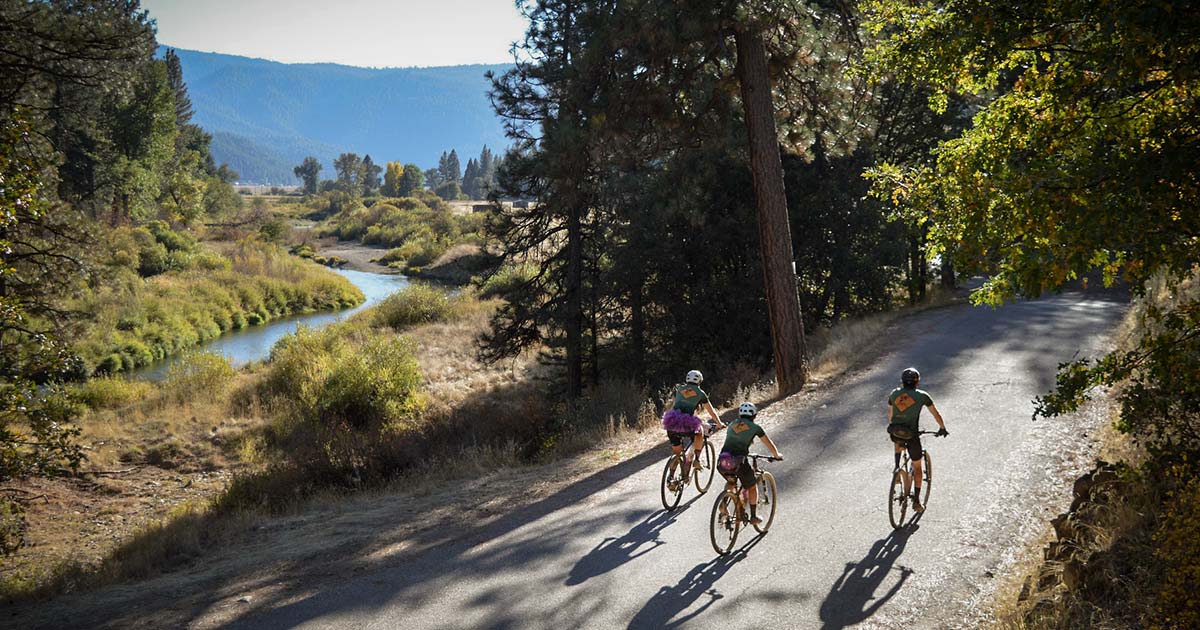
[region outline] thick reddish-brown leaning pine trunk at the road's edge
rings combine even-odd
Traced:
[[[775,133],[775,109],[770,100],[767,52],[762,36],[738,28],[738,80],[745,107],[750,140],[750,172],[758,205],[758,240],[775,355],[775,383],[780,395],[798,391],[808,378],[804,322],[797,296],[792,235],[787,223],[787,193]]]

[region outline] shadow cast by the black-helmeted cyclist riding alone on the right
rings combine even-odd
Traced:
[[[875,614],[880,606],[900,592],[900,587],[912,575],[912,569],[904,565],[900,565],[900,580],[886,593],[875,594],[904,553],[908,536],[919,527],[914,518],[908,527],[894,529],[886,538],[876,540],[862,560],[846,563],[846,569],[821,602],[821,620],[824,622],[822,630],[857,624]]]

